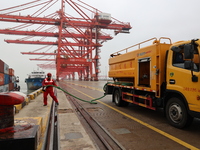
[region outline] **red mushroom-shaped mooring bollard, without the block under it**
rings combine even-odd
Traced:
[[[14,105],[21,104],[25,94],[20,92],[0,93],[0,129],[14,125]]]

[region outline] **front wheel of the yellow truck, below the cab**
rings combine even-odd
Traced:
[[[179,129],[189,126],[193,121],[193,118],[187,113],[184,103],[177,97],[168,100],[166,117],[169,124]]]

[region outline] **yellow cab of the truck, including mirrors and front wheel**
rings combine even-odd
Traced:
[[[167,57],[166,116],[173,126],[200,118],[200,41],[174,43]]]

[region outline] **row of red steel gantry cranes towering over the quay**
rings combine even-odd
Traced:
[[[58,2],[61,8],[47,15]],[[22,15],[25,12],[28,15]],[[30,60],[47,62],[38,66],[43,69],[55,68],[58,80],[65,77],[74,79],[75,73],[78,73],[79,80],[98,81],[100,47],[103,42],[113,38],[103,30],[114,30],[116,35],[129,33],[131,29],[129,23],[118,21],[80,0],[35,0],[1,9],[0,21],[19,23],[12,28],[0,29],[1,34],[26,36],[5,40],[7,43],[43,45],[37,50],[21,53],[41,55]]]

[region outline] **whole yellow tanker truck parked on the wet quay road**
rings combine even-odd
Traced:
[[[151,42],[149,46],[145,44]],[[145,45],[145,46],[143,46]],[[143,47],[142,47],[143,46]],[[152,38],[111,54],[105,86],[117,106],[164,110],[176,128],[200,118],[200,40]]]

